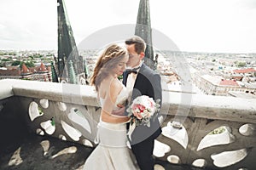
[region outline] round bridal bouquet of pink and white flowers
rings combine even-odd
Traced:
[[[126,110],[128,116],[131,116],[131,125],[146,125],[150,127],[150,120],[156,118],[160,111],[160,99],[154,102],[154,99],[146,95],[138,96]]]

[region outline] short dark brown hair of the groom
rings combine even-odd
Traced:
[[[135,44],[135,51],[137,54],[140,54],[145,51],[146,43],[144,42],[143,38],[138,36],[133,36],[125,40],[126,45]]]

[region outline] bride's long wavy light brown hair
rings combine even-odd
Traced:
[[[93,75],[90,77],[90,84],[96,87],[96,91],[102,80],[108,77],[109,72],[119,64],[119,61],[128,55],[125,48],[112,44],[104,50],[96,62]]]

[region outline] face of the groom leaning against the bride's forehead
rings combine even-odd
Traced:
[[[142,52],[141,54],[137,54],[135,51],[135,44],[126,45],[126,48],[129,53],[129,59],[126,65],[130,66],[131,68],[139,65],[144,57],[144,53]]]

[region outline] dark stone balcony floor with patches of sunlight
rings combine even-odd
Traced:
[[[15,142],[10,142],[7,145],[1,144],[1,170],[80,170],[83,169],[84,161],[93,150],[90,147],[86,147],[82,144],[61,141],[60,139],[39,135],[28,135],[26,138],[14,139],[14,141]],[[49,141],[47,154],[44,154],[45,150],[40,144],[42,141]],[[76,148],[76,151],[75,153],[65,153],[65,151],[63,151],[65,148]],[[63,154],[61,154],[60,151],[63,152]],[[51,158],[52,156],[56,157]],[[160,160],[156,160],[156,163],[159,165],[155,165],[154,170],[201,169],[188,166],[172,165],[168,162]]]

